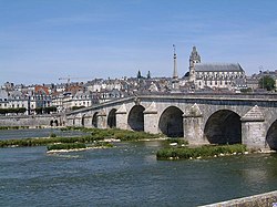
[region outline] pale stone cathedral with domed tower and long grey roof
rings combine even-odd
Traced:
[[[195,89],[243,89],[245,71],[238,63],[202,63],[196,46],[189,56],[189,82]]]

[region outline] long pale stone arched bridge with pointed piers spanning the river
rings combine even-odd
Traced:
[[[66,125],[277,149],[277,94],[137,95],[68,113]]]

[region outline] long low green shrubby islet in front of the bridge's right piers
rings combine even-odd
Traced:
[[[157,159],[189,159],[189,158],[207,158],[219,155],[232,155],[234,153],[245,153],[246,146],[236,145],[218,145],[218,146],[201,146],[195,148],[188,147],[166,147],[156,153]]]

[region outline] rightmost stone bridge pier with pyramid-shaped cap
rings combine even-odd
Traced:
[[[249,148],[266,148],[265,116],[255,105],[242,118],[242,143]]]

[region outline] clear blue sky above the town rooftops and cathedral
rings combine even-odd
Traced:
[[[277,69],[276,0],[0,0],[0,85],[121,79],[239,63]],[[59,80],[62,77],[62,80]]]

